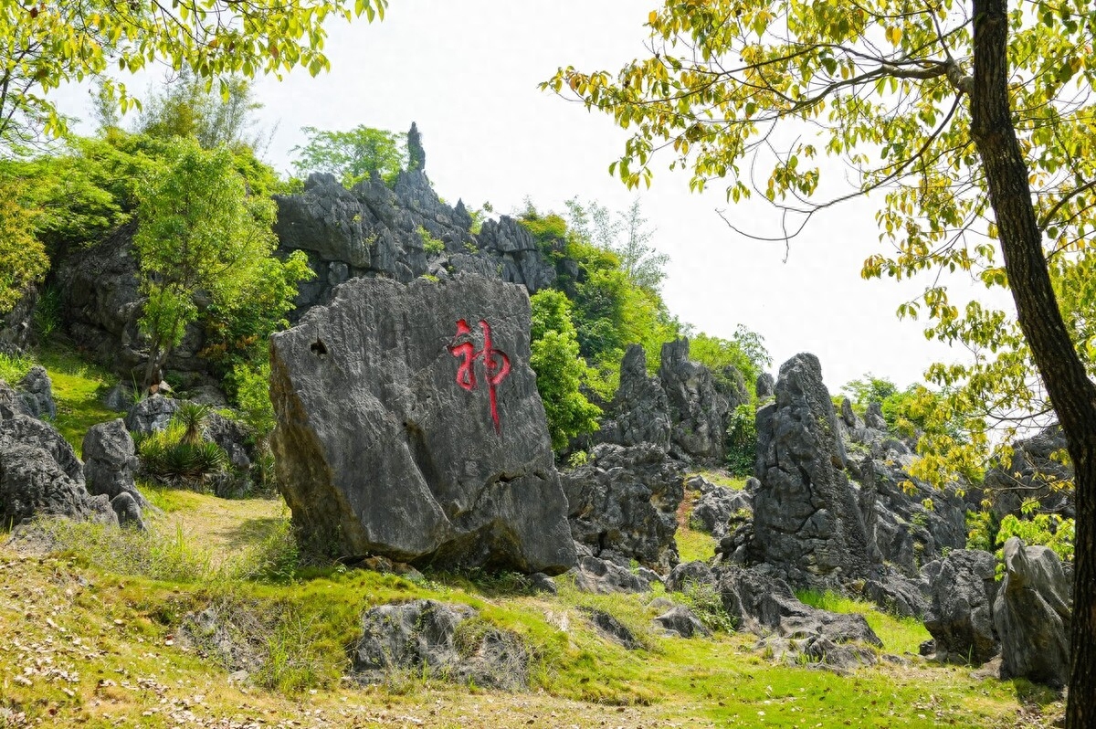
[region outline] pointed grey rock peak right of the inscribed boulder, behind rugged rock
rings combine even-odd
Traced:
[[[670,449],[670,402],[657,377],[647,374],[647,353],[631,344],[620,362],[620,385],[613,398],[614,418],[602,423],[597,440],[618,445],[651,443]]]

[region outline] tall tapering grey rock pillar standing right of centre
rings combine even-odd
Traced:
[[[757,477],[751,557],[797,586],[837,586],[870,574],[859,489],[822,367],[798,354],[780,367],[776,399],[757,411]]]

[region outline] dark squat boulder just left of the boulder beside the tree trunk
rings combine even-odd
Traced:
[[[977,549],[957,549],[926,566],[929,600],[925,627],[936,640],[939,660],[982,664],[996,656],[994,567],[993,555]]]

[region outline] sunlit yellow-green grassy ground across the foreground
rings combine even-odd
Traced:
[[[57,388],[66,432],[85,428],[95,412],[90,400],[69,398],[98,386],[87,373],[71,377]],[[924,628],[864,604],[827,606],[866,613],[887,643],[881,653],[898,658],[841,676],[775,663],[749,635],[662,637],[651,627],[660,612],[651,595],[596,596],[567,585],[538,595],[513,574],[301,567],[278,499],[146,492],[161,511],[146,533],[57,524],[39,537],[48,556],[0,547],[0,729],[983,728],[1050,726],[1061,710],[1053,695],[1025,682],[977,679],[968,668],[909,654]],[[419,671],[364,687],[344,680],[362,612],[419,597],[467,603],[487,624],[518,635],[533,657],[528,691],[452,685]],[[616,616],[642,648],[602,638],[589,607]],[[250,654],[247,677],[231,673],[217,640],[181,631],[198,613]]]

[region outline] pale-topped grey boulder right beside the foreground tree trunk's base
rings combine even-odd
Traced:
[[[1070,580],[1049,547],[1005,542],[1005,579],[993,603],[1002,676],[1061,687],[1070,677]]]

